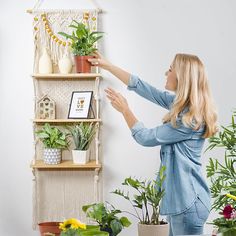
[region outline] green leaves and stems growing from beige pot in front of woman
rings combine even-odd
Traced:
[[[135,191],[133,196],[129,192],[116,189],[113,191],[124,199],[128,200],[134,208],[135,214],[128,212],[135,216],[141,224],[161,224],[164,223],[159,220],[159,205],[164,196],[164,189],[162,189],[163,181],[165,180],[165,166],[162,166],[157,180],[142,181],[136,178],[126,178],[122,185],[130,187]],[[151,209],[149,208],[151,207]]]

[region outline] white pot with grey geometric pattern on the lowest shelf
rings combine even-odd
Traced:
[[[44,148],[43,161],[45,164],[56,165],[61,163],[61,149]]]

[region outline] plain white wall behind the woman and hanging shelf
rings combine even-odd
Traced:
[[[35,1],[1,1],[0,14],[0,235],[38,235],[31,229],[33,153],[32,17],[25,13]],[[164,72],[177,52],[199,55],[204,61],[219,108],[219,122],[230,121],[235,107],[236,34],[234,0],[100,0],[103,53],[113,63],[163,88]],[[48,0],[43,8],[91,8],[89,1]],[[124,94],[137,117],[148,127],[161,123],[165,111],[135,94],[104,72],[102,84],[104,196],[121,209],[123,199],[110,194],[130,175],[152,178],[158,169],[159,148],[136,144],[123,118],[105,99],[103,88]],[[208,157],[203,155],[203,169]],[[213,213],[212,213],[213,214]],[[209,220],[212,219],[211,214]],[[210,231],[207,226],[205,232]],[[136,224],[121,235],[137,235]]]

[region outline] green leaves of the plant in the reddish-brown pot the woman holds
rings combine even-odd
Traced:
[[[71,50],[74,55],[90,56],[97,50],[95,42],[102,38],[103,32],[91,32],[89,27],[75,20],[68,27],[74,30],[71,34],[64,32],[58,34],[71,40]]]

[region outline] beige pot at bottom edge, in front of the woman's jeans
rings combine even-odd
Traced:
[[[145,225],[138,224],[138,236],[168,236],[169,224]]]

